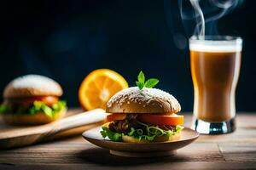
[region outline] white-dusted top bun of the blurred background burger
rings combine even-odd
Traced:
[[[33,96],[62,95],[62,88],[58,82],[49,77],[26,75],[17,77],[4,88],[3,98],[24,98]]]

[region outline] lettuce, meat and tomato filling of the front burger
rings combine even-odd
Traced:
[[[118,115],[118,114],[113,114]],[[149,117],[143,119],[143,116]],[[175,115],[177,116],[177,115]],[[102,127],[102,137],[113,140],[113,141],[122,141],[124,135],[131,136],[138,140],[148,140],[154,141],[155,138],[160,136],[165,136],[167,138],[172,137],[173,135],[179,133],[183,127],[177,124],[183,122],[183,116],[179,116],[178,119],[182,119],[179,122],[172,122],[173,116],[167,116],[166,119],[169,119],[169,122],[159,122],[164,116],[155,116],[151,114],[127,114],[124,119],[118,118],[119,120],[113,120],[113,122],[108,122]],[[108,118],[107,118],[108,119]],[[151,121],[150,121],[151,119]],[[177,118],[174,118],[177,120]]]

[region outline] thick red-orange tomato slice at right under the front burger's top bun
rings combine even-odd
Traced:
[[[152,115],[152,114],[139,114],[138,120],[154,125],[183,125],[183,116],[172,115]]]

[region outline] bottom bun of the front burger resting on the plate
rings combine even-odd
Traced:
[[[181,137],[181,133],[176,133],[173,136],[167,137],[167,136],[159,136],[156,137],[153,141],[148,141],[146,139],[136,139],[133,138],[131,136],[123,136],[123,141],[127,142],[127,143],[135,143],[135,144],[147,144],[147,143],[151,143],[151,142],[167,142],[167,141],[177,141],[179,140]]]

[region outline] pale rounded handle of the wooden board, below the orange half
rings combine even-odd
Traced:
[[[106,119],[106,116],[107,114],[102,109],[86,111],[75,116],[68,116],[67,118],[63,118],[58,122],[53,123],[48,135],[51,136],[55,133],[60,133],[75,127],[82,127],[91,123],[102,122]]]

